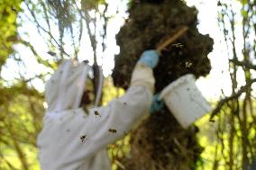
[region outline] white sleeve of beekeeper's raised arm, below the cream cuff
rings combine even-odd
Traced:
[[[133,125],[149,114],[152,94],[143,86],[132,86],[120,99],[105,107],[91,109],[87,116],[87,154],[105,148],[123,137]],[[99,115],[95,115],[97,112]],[[114,131],[112,131],[114,130]]]

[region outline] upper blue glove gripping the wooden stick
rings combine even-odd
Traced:
[[[142,53],[139,62],[141,62],[144,65],[147,65],[148,67],[154,68],[158,65],[159,62],[159,52],[154,49],[145,50]]]

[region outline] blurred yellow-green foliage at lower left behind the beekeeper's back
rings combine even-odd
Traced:
[[[38,166],[35,139],[41,130],[42,101],[37,95],[18,94],[1,107],[0,169]]]

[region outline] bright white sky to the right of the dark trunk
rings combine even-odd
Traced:
[[[229,95],[231,94],[231,81],[228,71],[228,53],[231,53],[231,51],[228,52],[223,32],[220,31],[218,27],[217,3],[215,0],[187,0],[187,4],[197,7],[199,12],[199,31],[203,34],[210,34],[215,40],[214,50],[208,55],[208,58],[211,60],[212,70],[206,78],[197,80],[197,85],[209,100],[218,99],[222,94],[222,89],[225,95]],[[233,1],[234,11],[239,13],[241,8],[241,3]],[[242,22],[241,19],[238,21]],[[242,32],[242,24],[237,24],[236,28],[240,29],[239,31]],[[237,35],[239,35],[239,33],[237,33]],[[236,40],[237,49],[239,49],[237,52],[242,56],[242,47],[238,44],[242,41],[242,34],[240,37],[237,36]],[[240,85],[244,85],[245,81],[242,70],[238,71],[238,79]]]

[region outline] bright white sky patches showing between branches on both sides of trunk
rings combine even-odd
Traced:
[[[114,54],[119,52],[119,48],[115,44],[114,35],[119,31],[120,26],[124,22],[124,18],[127,17],[127,13],[125,13],[125,4],[127,1],[114,1],[108,0],[110,4],[110,8],[115,11],[117,8],[122,13],[119,13],[112,19],[108,26],[108,35],[107,35],[107,49],[104,54],[98,55],[102,56],[102,58],[98,58],[99,65],[103,65],[105,76],[111,74],[111,70],[114,67]],[[215,40],[215,46],[212,53],[208,55],[208,58],[211,59],[212,70],[209,76],[206,78],[200,78],[197,80],[197,85],[199,86],[202,93],[206,96],[208,100],[215,100],[221,95],[221,89],[224,89],[224,94],[230,93],[230,79],[228,73],[228,54],[227,49],[224,44],[223,34],[218,28],[217,21],[217,4],[215,0],[208,1],[195,1],[195,0],[187,0],[188,5],[196,5],[199,13],[198,13],[198,29],[203,34],[210,34],[210,36]],[[240,5],[238,3],[233,2],[233,7],[237,10],[240,10]],[[38,53],[43,58],[50,58],[50,55],[47,54],[48,48],[38,33],[36,26],[33,22],[29,21],[26,16],[29,13],[26,10],[26,7],[23,5],[24,14],[21,15],[23,20],[23,25],[19,28],[20,35],[23,37],[23,40],[29,40]],[[112,13],[109,13],[110,15]],[[18,22],[21,22],[21,18],[18,19]],[[87,32],[85,30],[85,32]],[[54,33],[54,32],[53,32]],[[43,35],[43,34],[42,34]],[[82,48],[79,51],[78,58],[79,60],[88,59],[90,64],[93,63],[93,52],[90,47],[85,44],[88,43],[87,33],[84,33],[85,38],[82,40],[81,46]],[[240,37],[237,37],[238,41]],[[64,47],[65,50],[70,51],[69,42],[65,42],[67,45]],[[37,64],[35,58],[32,58],[32,52],[30,49],[25,48],[23,45],[15,45],[15,49],[18,51],[16,55],[20,55],[25,62],[25,67],[17,66],[16,62],[13,59],[7,60],[7,65],[4,68],[2,74],[6,80],[12,80],[14,77],[19,76],[18,73],[23,74],[25,77],[29,78],[35,75],[39,75],[41,72],[50,72],[52,70],[46,69],[45,67]],[[243,84],[242,76],[240,78],[241,84]],[[32,84],[36,86],[40,91],[43,91],[44,85],[43,82],[39,79],[35,79],[32,81]]]

